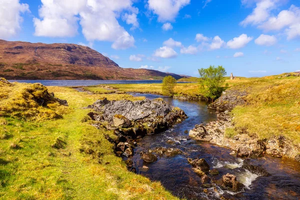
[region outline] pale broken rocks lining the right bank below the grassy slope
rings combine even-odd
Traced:
[[[221,108],[219,108],[221,109]],[[300,148],[294,146],[284,136],[279,135],[269,139],[259,139],[247,134],[246,129],[236,130],[238,134],[232,137],[225,136],[225,129],[232,128],[232,117],[228,110],[217,113],[216,121],[207,124],[195,125],[189,131],[189,136],[200,141],[209,141],[211,143],[225,146],[234,150],[238,157],[257,158],[264,154],[270,154],[274,157],[286,155],[296,158]]]

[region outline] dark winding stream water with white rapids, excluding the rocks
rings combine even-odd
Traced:
[[[134,155],[130,158],[138,174],[151,180],[158,180],[173,195],[186,199],[299,199],[300,198],[300,164],[288,158],[264,156],[258,159],[247,158],[247,163],[260,165],[266,169],[269,176],[260,176],[242,168],[244,159],[230,155],[228,148],[219,147],[208,142],[195,141],[184,133],[195,124],[216,120],[213,110],[207,109],[206,102],[195,100],[180,100],[171,97],[130,93],[146,98],[163,98],[173,106],[180,107],[188,118],[172,128],[158,134],[146,135],[137,142]],[[185,131],[186,132],[186,131]],[[169,141],[168,141],[169,140]],[[168,142],[167,142],[168,141]],[[158,156],[152,163],[144,163],[139,152],[155,147],[178,148],[183,153],[165,157]],[[242,192],[233,193],[212,183],[204,188],[200,177],[192,170],[187,157],[204,158],[211,168],[216,168],[219,174],[209,176],[212,182],[221,179],[226,173],[236,175],[239,182],[245,185]],[[127,159],[124,157],[124,159]],[[148,169],[142,168],[145,165]]]

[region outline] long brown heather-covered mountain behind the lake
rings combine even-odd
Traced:
[[[151,69],[122,68],[78,44],[0,40],[0,77],[6,79],[162,79],[167,75]]]

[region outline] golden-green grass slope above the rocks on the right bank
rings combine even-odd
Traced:
[[[250,78],[230,89],[249,93],[246,104],[232,110],[234,131],[258,138],[283,135],[294,144],[300,143],[299,77]]]

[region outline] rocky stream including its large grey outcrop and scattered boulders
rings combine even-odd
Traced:
[[[128,170],[158,180],[173,195],[187,199],[300,198],[300,162],[281,154],[264,155],[266,146],[257,141],[252,149],[237,145],[233,152],[219,146],[227,143],[217,138],[217,114],[206,102],[132,95],[147,99],[104,99],[88,106],[94,110],[89,113],[93,120],[114,131],[117,137],[107,139],[115,144],[115,153],[123,157]],[[227,118],[218,116],[222,124]],[[242,153],[248,154],[236,156]]]

